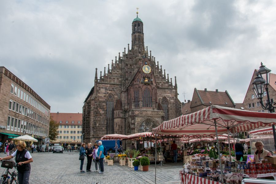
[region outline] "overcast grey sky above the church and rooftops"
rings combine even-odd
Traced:
[[[51,112],[82,113],[104,70],[144,23],[145,46],[178,98],[227,90],[242,103],[260,62],[276,73],[275,1],[0,1],[0,66],[29,85]],[[98,76],[99,77],[99,76]]]

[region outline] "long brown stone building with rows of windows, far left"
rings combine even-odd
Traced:
[[[43,144],[49,135],[50,105],[30,86],[0,67],[0,141],[27,134]]]

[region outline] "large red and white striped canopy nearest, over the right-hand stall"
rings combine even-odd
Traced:
[[[164,121],[161,125],[152,129],[158,135],[215,135],[248,131],[260,126],[275,125],[275,113],[261,113],[245,111],[228,107],[211,105],[195,113],[182,115],[175,119]]]

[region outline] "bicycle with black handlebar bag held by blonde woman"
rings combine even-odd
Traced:
[[[16,168],[18,167],[18,164],[17,163],[14,163],[12,160],[1,160],[0,162],[2,161],[8,161],[7,163],[10,163],[10,164],[3,164],[1,165],[1,167],[3,168],[6,168],[2,175],[1,175],[1,179],[0,179],[0,184],[12,184],[13,181],[18,184],[18,178],[17,178],[17,172],[15,171]],[[12,165],[11,165],[12,164]],[[9,169],[12,169],[14,167],[14,171],[13,172],[10,172]],[[10,174],[10,176],[9,176]],[[9,182],[10,180],[10,182]]]

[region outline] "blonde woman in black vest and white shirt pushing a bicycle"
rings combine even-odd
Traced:
[[[29,178],[31,173],[31,162],[33,158],[30,152],[25,149],[26,143],[19,140],[16,145],[17,150],[13,152],[12,155],[0,158],[0,160],[8,160],[15,157],[15,162],[18,163],[18,183],[19,184],[29,184]]]

